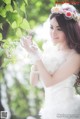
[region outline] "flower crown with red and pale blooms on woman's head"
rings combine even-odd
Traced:
[[[70,10],[68,7],[62,8],[60,6],[55,6],[52,7],[51,13],[56,13],[56,14],[64,14],[66,18],[69,19],[74,19],[75,21],[80,20],[80,14],[76,10]]]

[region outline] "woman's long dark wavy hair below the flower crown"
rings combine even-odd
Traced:
[[[74,19],[67,19],[64,14],[52,13],[50,15],[50,20],[56,18],[59,26],[65,33],[67,38],[67,44],[70,49],[74,49],[78,54],[80,54],[80,25]],[[80,86],[80,72],[78,73],[78,78],[75,83]]]

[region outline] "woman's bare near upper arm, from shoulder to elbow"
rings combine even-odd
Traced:
[[[53,84],[67,79],[72,74],[77,74],[80,68],[80,55],[77,52],[70,52],[67,60],[59,67],[53,75]]]

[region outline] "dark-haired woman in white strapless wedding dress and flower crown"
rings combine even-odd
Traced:
[[[34,59],[30,81],[36,85],[41,77],[45,90],[41,119],[80,119],[80,96],[74,84],[80,80],[80,26],[76,9],[69,4],[53,7],[50,35],[57,50],[39,52],[24,38],[23,47]]]

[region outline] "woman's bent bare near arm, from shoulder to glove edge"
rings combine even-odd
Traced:
[[[53,74],[50,75],[41,60],[36,62],[40,76],[46,87],[52,86],[62,80],[67,79],[70,75],[74,74],[80,68],[80,55],[73,54],[61,67]]]

